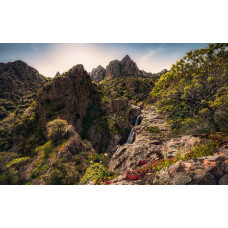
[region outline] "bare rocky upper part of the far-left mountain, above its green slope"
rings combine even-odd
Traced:
[[[41,88],[46,81],[36,69],[23,61],[0,63],[0,94],[28,94]]]

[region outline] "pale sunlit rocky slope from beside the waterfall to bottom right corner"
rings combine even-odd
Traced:
[[[162,159],[170,162],[179,153],[184,156],[202,141],[192,135],[170,135],[164,116],[157,114],[154,107],[142,110],[141,118],[141,124],[135,127],[134,142],[120,145],[110,160],[109,168],[120,174],[111,184],[228,184],[225,146],[211,156],[174,162],[155,176],[150,172],[135,174],[135,170],[146,169],[150,163]]]

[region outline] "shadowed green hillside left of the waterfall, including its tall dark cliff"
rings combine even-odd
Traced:
[[[142,100],[138,94],[148,95],[153,85],[145,80],[132,78],[122,87],[127,91],[137,84],[137,91],[129,92],[133,100]],[[78,184],[90,162],[100,160],[94,168],[113,176],[108,160],[127,139],[140,108],[121,94],[111,94],[104,84],[92,83],[82,65],[46,83],[27,109],[2,120],[0,182]],[[50,134],[50,124],[52,132],[60,132],[57,138]],[[81,183],[87,183],[86,177]]]

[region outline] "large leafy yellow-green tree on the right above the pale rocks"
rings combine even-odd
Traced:
[[[151,93],[173,129],[227,131],[228,44],[190,51],[162,75]]]

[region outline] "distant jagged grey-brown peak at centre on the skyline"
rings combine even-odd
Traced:
[[[136,63],[126,55],[121,61],[111,61],[106,67],[106,79],[113,79],[118,76],[142,76],[142,72]]]

